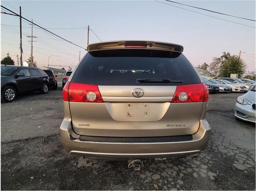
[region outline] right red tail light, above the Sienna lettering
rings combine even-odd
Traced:
[[[208,101],[209,91],[204,83],[177,86],[171,103]]]

